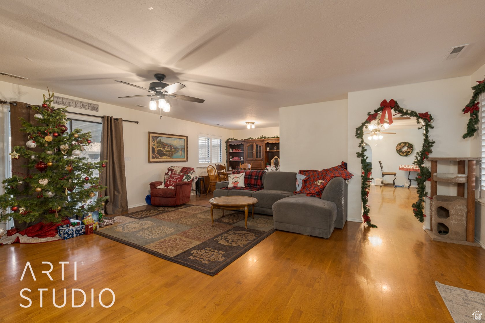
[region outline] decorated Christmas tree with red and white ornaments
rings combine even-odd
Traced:
[[[0,220],[13,217],[21,222],[43,220],[60,222],[63,218],[81,218],[99,211],[102,215],[101,186],[95,170],[106,167],[105,161],[87,162],[84,147],[91,144],[90,132],[68,132],[65,108],[53,108],[54,93],[44,95],[40,106],[33,106],[35,124],[20,118],[21,131],[27,133],[25,146],[12,147],[12,163],[27,160],[25,171],[3,180],[0,195]],[[93,198],[97,196],[97,199]],[[9,213],[11,210],[12,213]]]

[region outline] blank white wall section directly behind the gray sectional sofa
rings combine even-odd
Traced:
[[[324,169],[347,159],[347,100],[279,109],[281,170]]]

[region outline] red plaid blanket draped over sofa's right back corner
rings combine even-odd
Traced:
[[[302,188],[293,193],[306,194],[317,198],[322,197],[323,189],[332,178],[342,177],[345,180],[350,180],[354,176],[341,165],[322,170],[300,170],[298,173],[307,177],[302,182]]]

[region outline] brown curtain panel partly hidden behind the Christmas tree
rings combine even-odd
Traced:
[[[12,139],[12,148],[15,146],[24,146],[25,143],[29,140],[27,138],[29,135],[26,132],[20,131],[22,127],[22,123],[18,118],[24,118],[26,121],[32,123],[33,125],[37,125],[37,120],[34,119],[34,114],[37,113],[32,108],[27,108],[27,104],[24,102],[15,102],[16,106],[13,104],[10,105],[10,134]],[[35,147],[32,149],[35,153],[40,153],[43,151],[40,147]],[[11,153],[11,152],[10,152]],[[20,157],[19,159],[12,159],[12,175],[17,175],[23,177],[25,175],[29,175],[32,173],[38,173],[37,169],[27,169],[27,164],[29,160],[27,158]],[[24,189],[24,185],[18,185],[18,189]],[[22,231],[34,224],[37,224],[41,221],[41,219],[37,219],[33,222],[20,222],[14,220],[15,227]]]

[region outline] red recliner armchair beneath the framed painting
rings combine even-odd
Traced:
[[[185,204],[190,200],[190,193],[192,190],[192,181],[194,178],[195,170],[191,167],[170,167],[165,173],[165,182],[171,173],[181,174],[185,176],[193,177],[191,180],[186,182],[178,182],[174,184],[174,188],[157,188],[157,186],[162,185],[164,182],[157,181],[150,183],[150,197],[151,204],[158,206],[176,206]]]

